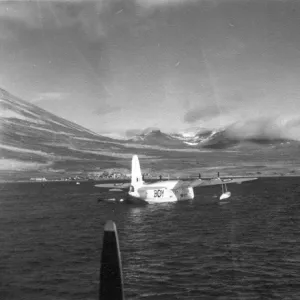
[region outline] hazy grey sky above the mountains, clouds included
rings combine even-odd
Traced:
[[[296,126],[299,15],[296,0],[2,0],[0,87],[102,134]]]

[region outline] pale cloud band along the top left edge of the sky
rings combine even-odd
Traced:
[[[90,42],[97,42],[107,36],[109,28],[113,27],[112,23],[126,20],[125,14],[147,17],[156,9],[202,2],[212,4],[215,0],[0,1],[0,29],[3,31],[2,28],[7,22],[14,34],[24,28],[28,30],[75,28],[79,29]],[[0,38],[9,35],[8,31],[0,32]]]

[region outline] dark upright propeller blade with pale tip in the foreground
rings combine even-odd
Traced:
[[[123,299],[125,298],[117,228],[113,221],[107,221],[104,226],[99,300]]]

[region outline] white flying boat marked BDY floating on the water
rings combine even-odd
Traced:
[[[227,199],[231,193],[227,190],[228,183],[242,183],[244,181],[256,180],[257,178],[230,178],[222,179],[196,179],[190,181],[167,180],[146,183],[141,173],[140,162],[137,155],[132,157],[131,182],[96,184],[96,187],[109,188],[109,191],[116,192],[129,189],[126,201],[132,203],[165,203],[194,199],[194,187],[221,185],[222,195],[220,200]],[[114,199],[112,199],[114,200]],[[121,201],[123,201],[121,199]]]

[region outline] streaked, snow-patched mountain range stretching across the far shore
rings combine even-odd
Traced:
[[[237,137],[230,127],[201,129],[192,134],[155,129],[126,140],[113,139],[55,116],[4,89],[0,89],[0,134],[2,179],[78,174],[112,167],[129,171],[133,154],[138,154],[151,170],[195,168],[189,164],[183,167],[184,160],[196,160],[202,167],[220,165],[220,156],[228,166],[237,158],[249,161],[249,154],[252,161],[258,157],[260,161],[263,157],[278,161],[280,157],[287,158],[288,163],[300,145],[285,138]],[[203,157],[206,161],[199,162]]]

